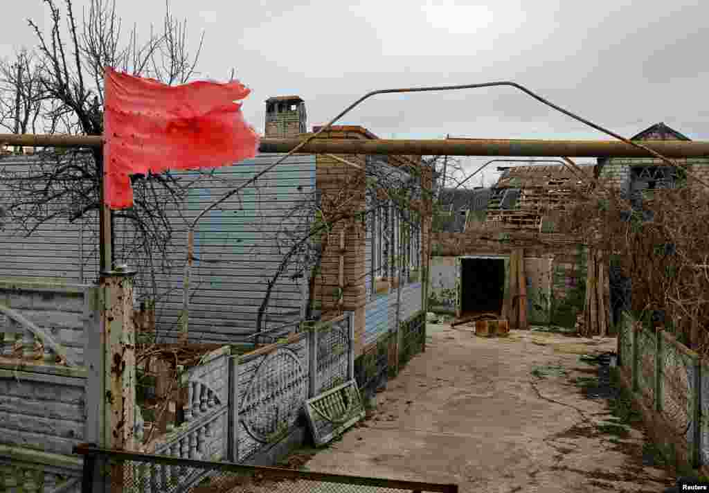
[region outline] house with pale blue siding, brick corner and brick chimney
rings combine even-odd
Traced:
[[[306,118],[305,103],[299,96],[269,98],[265,137],[304,137],[307,135]],[[334,126],[320,138],[375,139],[376,135],[361,126]],[[116,214],[114,261],[116,265],[125,264],[138,270],[135,303],[137,306],[155,304],[158,340],[171,342],[179,335],[184,309],[182,287],[187,225],[223,194],[252,179],[279,157],[281,155],[259,154],[238,165],[202,174],[174,172],[179,179],[191,184],[182,206],[179,209],[168,207],[166,216],[172,238],[164,250],[152,257],[136,247],[130,221]],[[90,159],[88,155],[82,158]],[[342,159],[354,166],[343,163]],[[41,166],[41,161],[41,157],[33,154],[0,157],[3,176],[11,179],[5,182],[1,192],[12,194],[8,184],[21,181]],[[252,343],[256,333],[264,333],[264,342],[296,330],[306,315],[352,311],[359,355],[364,350],[365,340],[373,343],[374,334],[384,331],[381,316],[365,314],[368,304],[383,292],[396,292],[394,279],[399,266],[405,271],[402,289],[418,286],[411,288],[418,289],[416,294],[409,295],[408,291],[404,294],[399,319],[420,310],[423,306],[420,279],[410,282],[409,278],[414,279],[420,267],[425,244],[421,237],[425,233],[420,228],[420,220],[411,216],[408,223],[418,222],[411,223],[404,235],[403,211],[396,210],[391,201],[386,206],[386,202],[379,199],[366,220],[345,221],[346,227],[338,223],[330,230],[328,249],[319,261],[313,289],[308,286],[312,271],[303,267],[314,262],[306,258],[313,255],[313,250],[295,245],[318,221],[319,204],[328,201],[328,196],[342,193],[338,189],[342,183],[347,180],[357,183],[357,189],[347,190],[351,195],[349,207],[364,211],[368,203],[365,169],[376,169],[376,173],[367,172],[367,176],[382,175],[381,170],[386,167],[414,169],[418,162],[418,157],[407,156],[352,155],[338,160],[328,155],[296,154],[204,214],[194,230],[194,263],[189,279],[190,340]],[[362,175],[361,179],[358,174]],[[11,198],[6,197],[6,202],[11,202]],[[98,275],[97,223],[95,211],[72,222],[66,216],[57,216],[38,224],[29,236],[23,225],[7,224],[0,233],[3,252],[0,277],[79,284],[94,282]],[[339,246],[341,228],[345,245],[342,250]],[[284,262],[284,257],[289,260]],[[312,302],[310,311],[314,313],[307,313],[308,301]],[[377,305],[376,313],[381,309]],[[393,316],[396,311],[387,305],[386,312],[388,330],[396,321]],[[365,321],[371,321],[370,326]]]

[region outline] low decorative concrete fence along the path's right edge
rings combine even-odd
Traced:
[[[625,314],[618,334],[621,375],[656,439],[681,462],[709,465],[709,365],[662,330]]]

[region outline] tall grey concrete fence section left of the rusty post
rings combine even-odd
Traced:
[[[97,292],[0,282],[0,491],[80,490],[72,448],[98,433],[86,337],[99,323]]]

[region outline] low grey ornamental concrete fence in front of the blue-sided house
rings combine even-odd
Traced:
[[[179,459],[245,462],[298,428],[306,400],[353,378],[352,314],[313,323],[245,355],[223,346],[180,376],[184,421],[143,445]],[[137,420],[137,435],[145,431]],[[127,472],[146,492],[201,482],[208,471],[138,463]]]

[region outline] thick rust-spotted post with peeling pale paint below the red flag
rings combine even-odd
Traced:
[[[135,450],[134,276],[135,271],[121,270],[99,277],[104,368],[99,395],[105,399],[99,446],[113,450]],[[121,489],[127,473],[121,465],[113,467],[111,484]]]

